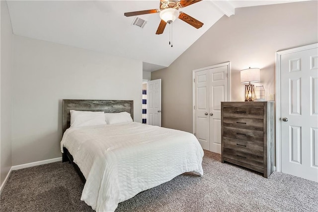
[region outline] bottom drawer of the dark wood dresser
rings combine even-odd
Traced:
[[[223,148],[223,157],[230,158],[259,168],[264,168],[264,158],[262,156],[241,152],[235,149]]]

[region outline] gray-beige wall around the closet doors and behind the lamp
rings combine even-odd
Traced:
[[[266,96],[275,93],[275,52],[318,42],[318,1],[243,7],[223,16],[168,68],[162,79],[164,127],[192,132],[192,70],[231,61],[232,101],[244,100],[239,71],[261,69]]]

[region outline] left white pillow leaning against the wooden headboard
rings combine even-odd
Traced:
[[[71,127],[106,124],[104,112],[70,110]]]

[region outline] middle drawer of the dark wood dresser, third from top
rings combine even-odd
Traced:
[[[234,127],[223,127],[223,136],[237,138],[252,142],[264,143],[264,134],[262,131],[251,129],[239,129]]]

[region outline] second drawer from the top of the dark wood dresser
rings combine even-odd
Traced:
[[[264,120],[259,118],[224,117],[223,126],[263,131]]]

